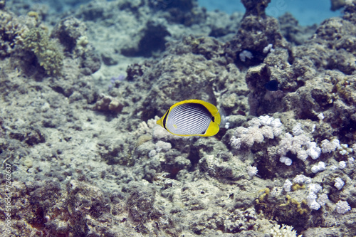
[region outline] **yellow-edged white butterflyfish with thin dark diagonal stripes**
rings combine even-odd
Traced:
[[[219,132],[219,110],[203,100],[177,102],[157,121],[165,130],[178,136],[214,136]]]

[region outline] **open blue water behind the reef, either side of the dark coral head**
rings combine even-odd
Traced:
[[[234,11],[244,12],[244,5],[237,0],[198,0],[200,6],[205,6],[208,11],[219,9],[228,14]],[[301,26],[321,23],[333,16],[340,16],[339,11],[330,10],[329,0],[272,0],[268,5],[266,13],[269,16],[278,17],[289,11]]]

